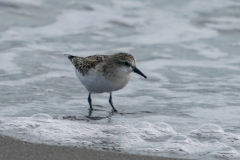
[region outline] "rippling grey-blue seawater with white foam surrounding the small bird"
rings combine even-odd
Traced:
[[[184,159],[240,159],[238,0],[0,0],[0,134]],[[88,92],[63,54],[129,52],[148,76]]]

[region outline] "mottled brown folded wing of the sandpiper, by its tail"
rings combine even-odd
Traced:
[[[108,55],[94,55],[85,58],[72,55],[68,56],[68,59],[82,75],[86,75],[89,70],[95,69],[98,64],[103,63],[107,58]]]

